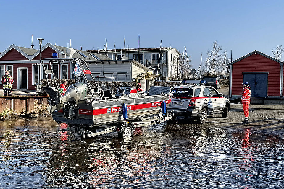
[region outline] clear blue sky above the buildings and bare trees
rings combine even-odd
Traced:
[[[39,49],[36,38],[83,50],[186,46],[191,64],[217,42],[233,61],[253,50],[272,56],[284,46],[284,1],[0,1],[0,52],[10,45]],[[230,56],[230,54],[229,54]],[[282,57],[284,59],[284,56]]]

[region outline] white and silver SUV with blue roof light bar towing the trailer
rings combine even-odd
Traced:
[[[185,85],[173,87],[172,102],[167,108],[175,116],[196,117],[199,123],[206,123],[207,115],[221,113],[228,117],[230,101],[204,80],[183,80]]]

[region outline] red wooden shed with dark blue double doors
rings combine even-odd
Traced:
[[[253,51],[227,65],[229,98],[241,97],[243,82],[249,82],[252,99],[280,99],[283,96],[283,62]]]

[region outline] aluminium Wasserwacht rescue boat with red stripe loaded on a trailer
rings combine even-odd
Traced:
[[[42,60],[45,73],[44,61]],[[74,61],[80,63],[81,68],[90,70],[84,60],[75,58],[52,58],[48,59],[51,73],[51,62]],[[150,115],[159,113],[166,114],[165,109],[170,105],[173,92],[171,87],[151,86],[149,91],[137,92],[136,87],[124,87],[119,85],[115,88],[115,94],[110,91],[102,91],[98,88],[95,79],[91,75],[96,88],[91,88],[85,73],[84,82],[77,82],[68,87],[66,93],[60,94],[58,85],[43,89],[50,98],[48,110],[57,123],[67,123],[70,126],[93,127],[105,124],[120,123],[123,121],[139,120]],[[46,77],[47,78],[47,77]],[[55,76],[53,76],[55,78]],[[164,111],[163,111],[164,110]]]

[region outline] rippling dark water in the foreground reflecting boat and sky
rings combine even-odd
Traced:
[[[284,187],[282,139],[179,126],[82,141],[51,117],[1,121],[0,188]]]

